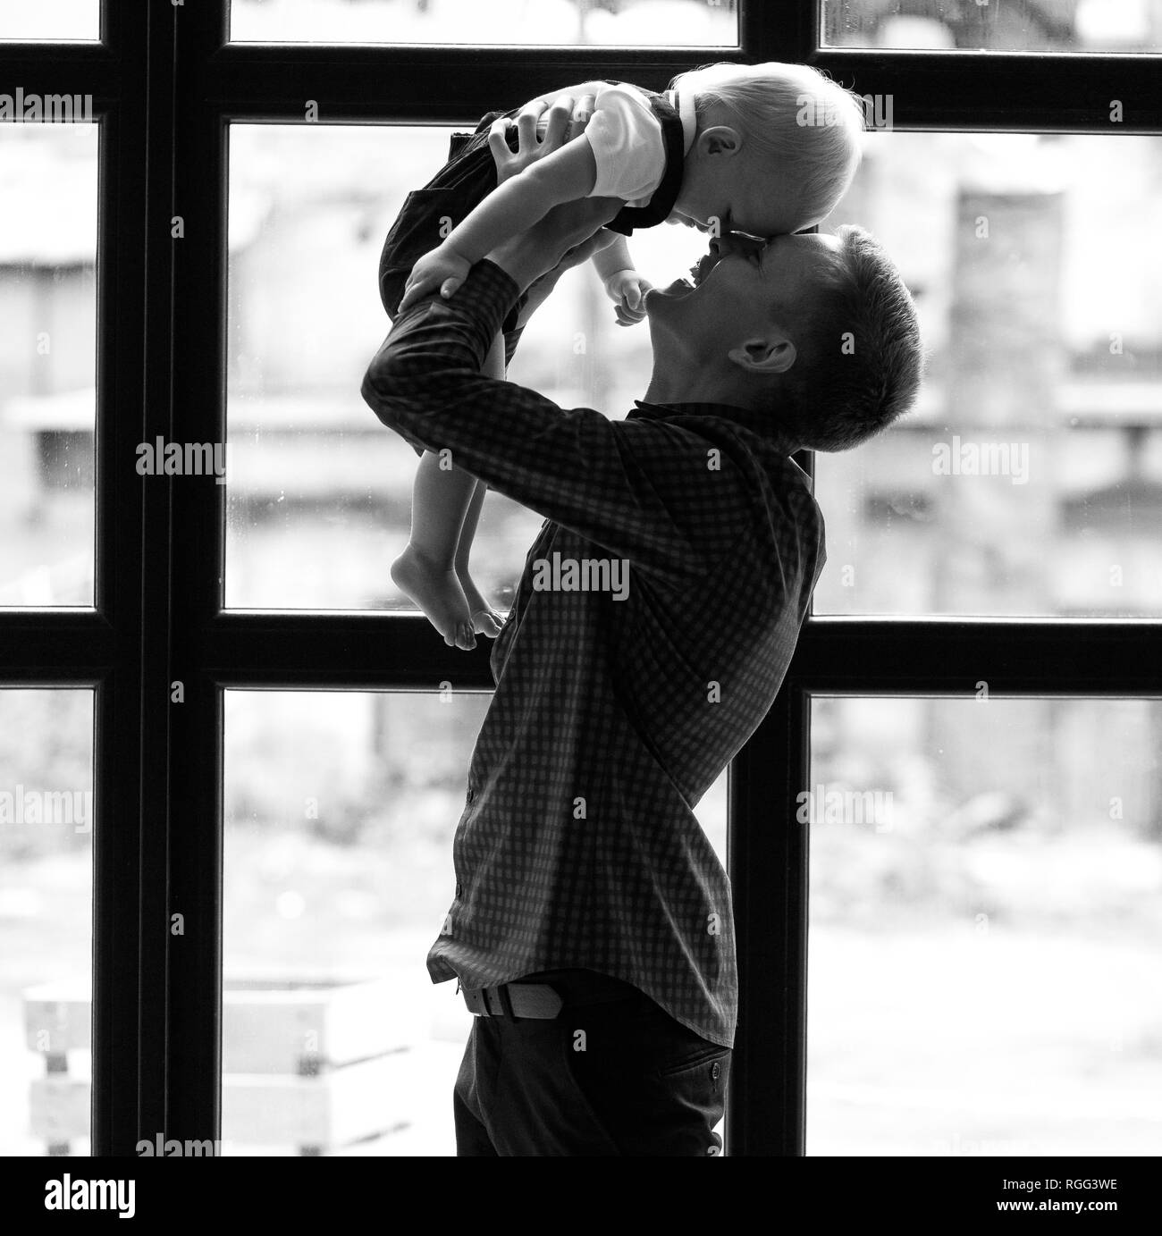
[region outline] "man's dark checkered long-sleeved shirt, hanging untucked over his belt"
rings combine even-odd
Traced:
[[[597,970],[733,1046],[731,884],[695,807],[782,681],[822,515],[766,413],[638,403],[611,420],[482,377],[517,294],[477,263],[396,320],[362,388],[413,446],[545,518],[492,648],[428,969],[467,988]]]

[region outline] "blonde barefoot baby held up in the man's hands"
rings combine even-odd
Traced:
[[[592,96],[585,131],[503,184],[488,147],[502,114],[452,137],[447,164],[408,195],[384,242],[380,293],[392,318],[424,295],[452,295],[475,262],[560,203],[598,197],[626,203],[607,225],[618,239],[592,263],[618,323],[632,325],[645,316],[651,287],[623,239],[634,227],[669,221],[713,235],[800,231],[831,213],[859,163],[859,100],[801,64],[712,64],[679,74],[665,94],[587,82],[534,101],[565,93]],[[504,330],[514,325],[515,311]],[[482,372],[504,377],[501,336]],[[445,644],[470,649],[476,633],[496,637],[502,619],[469,575],[486,486],[447,462],[422,452],[412,535],[392,578]]]

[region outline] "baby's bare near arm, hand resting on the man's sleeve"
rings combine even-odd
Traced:
[[[503,141],[503,131],[494,126],[493,136],[497,132]],[[493,189],[438,248],[415,263],[399,311],[434,292],[450,297],[473,262],[527,231],[562,201],[587,198],[596,183],[597,162],[583,133],[532,163]]]

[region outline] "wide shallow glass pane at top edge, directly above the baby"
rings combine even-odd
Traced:
[[[231,0],[230,37],[268,43],[737,47],[737,0]]]

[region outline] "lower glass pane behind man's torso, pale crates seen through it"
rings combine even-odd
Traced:
[[[454,1154],[425,958],[488,695],[227,691],[223,1152]],[[698,818],[724,848],[726,777]]]

